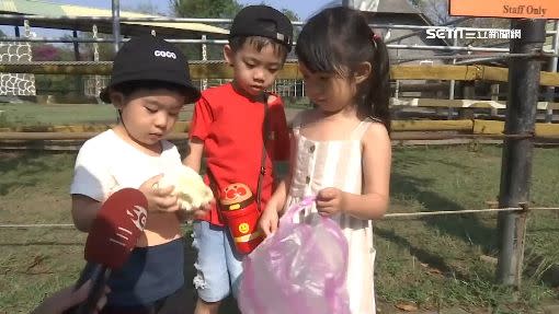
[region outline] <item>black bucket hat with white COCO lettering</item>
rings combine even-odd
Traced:
[[[189,61],[173,44],[162,38],[142,35],[126,42],[116,54],[111,82],[100,93],[110,103],[109,89],[124,82],[160,81],[184,88],[186,103],[199,98],[199,91],[191,82]]]

